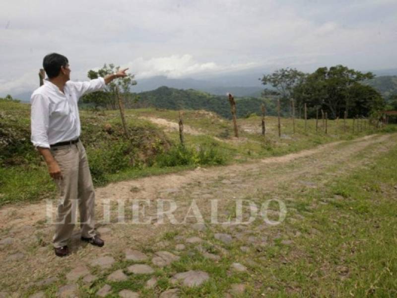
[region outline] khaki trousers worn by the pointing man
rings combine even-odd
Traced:
[[[80,213],[81,236],[95,235],[95,191],[83,144],[58,146],[51,149],[61,168],[62,179],[55,182],[59,190],[59,204],[55,223],[54,247],[67,245],[76,222],[76,208]]]

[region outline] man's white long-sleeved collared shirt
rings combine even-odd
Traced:
[[[33,146],[50,148],[50,145],[77,139],[80,136],[78,99],[104,86],[103,77],[86,82],[67,81],[62,93],[58,86],[45,80],[30,98]]]

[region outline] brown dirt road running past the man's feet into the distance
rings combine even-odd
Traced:
[[[107,265],[102,266],[103,264],[96,264],[98,267],[93,261],[103,260],[103,257],[107,256],[113,259],[113,269],[122,268],[120,264],[123,263],[126,249],[146,252],[148,259],[152,259],[151,263],[146,263],[156,267],[158,263],[154,259],[155,251],[166,250],[178,256],[188,250],[182,246],[181,250],[171,247],[172,241],[175,240],[173,236],[177,235],[177,241],[184,242],[189,236],[199,235],[203,238],[204,232],[219,230],[219,225],[208,223],[211,200],[218,200],[219,221],[223,221],[233,214],[236,199],[252,199],[259,202],[260,197],[277,196],[280,188],[288,188],[293,192],[294,189],[319,187],[332,177],[365,167],[372,157],[395,146],[396,141],[396,134],[372,135],[247,164],[197,168],[177,174],[109,184],[96,190],[98,230],[105,240],[105,246],[97,248],[81,243],[76,227],[70,244],[72,253],[66,258],[58,258],[53,253],[53,226],[45,221],[46,202],[4,206],[0,209],[0,297],[19,297],[34,293],[53,293],[67,297],[68,292],[64,285],[69,286],[70,293],[78,295],[75,293],[85,291],[81,290],[84,281],[79,280],[78,289],[76,281],[68,275],[70,271],[81,269],[83,266],[84,274],[78,273],[77,276],[92,276],[93,280],[87,283],[95,286],[95,278],[107,274],[109,269],[106,269]],[[205,227],[170,224],[168,220],[165,220],[164,224],[158,224],[158,206],[155,204],[158,199],[173,200],[176,203],[178,208],[174,215],[178,223],[183,221],[192,200],[195,199],[206,222]],[[147,216],[153,216],[150,224],[132,224],[133,200],[151,202],[145,209]],[[55,202],[53,203],[55,208]],[[110,222],[104,223],[104,206],[106,210],[107,204],[110,206]],[[123,204],[126,207],[124,224],[118,219],[119,206]],[[276,229],[277,227],[274,227],[269,232],[276,232]],[[228,235],[235,239],[238,238],[236,233],[236,229],[231,229]],[[219,251],[221,256],[227,254],[222,247],[219,247]]]

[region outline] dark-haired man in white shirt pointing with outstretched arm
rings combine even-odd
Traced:
[[[44,57],[43,68],[48,79],[31,96],[31,141],[43,155],[50,176],[59,189],[53,243],[55,254],[62,257],[69,253],[67,242],[74,227],[72,205],[76,201],[80,213],[81,240],[96,246],[104,245],[95,231],[95,191],[87,155],[79,140],[77,101],[88,92],[102,89],[113,79],[126,76],[128,69],[104,78],[72,82],[67,58],[57,53]]]

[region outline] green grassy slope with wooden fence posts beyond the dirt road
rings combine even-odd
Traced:
[[[30,143],[30,105],[0,100],[0,111],[0,205],[53,197],[55,186],[46,165]],[[175,124],[178,111],[127,110],[131,140],[125,140],[123,136],[119,111],[96,113],[82,110],[80,117],[81,139],[97,186],[199,165],[230,164],[282,155],[375,132],[367,126],[365,131],[358,131],[356,127],[353,133],[351,120],[347,121],[344,132],[342,120],[339,120],[328,121],[328,134],[325,134],[321,121],[316,132],[315,120],[312,119],[308,121],[307,130],[304,129],[304,120],[296,120],[294,134],[292,120],[281,119],[282,132],[278,138],[277,119],[266,117],[266,136],[263,137],[261,118],[252,116],[238,119],[239,138],[236,139],[233,138],[231,121],[214,113],[189,110],[184,111],[184,124],[194,133],[185,134],[186,147],[190,151],[181,154],[175,149],[179,144],[177,130],[159,126],[148,119],[160,118]],[[106,124],[111,125],[110,133],[105,130]],[[170,148],[175,150],[169,151]],[[199,158],[197,149],[206,154],[205,158]],[[167,151],[171,153],[167,155]]]

